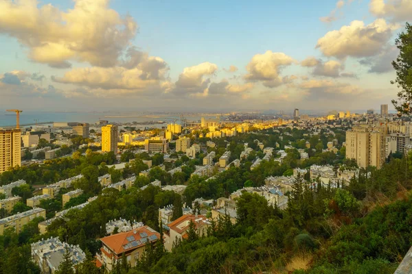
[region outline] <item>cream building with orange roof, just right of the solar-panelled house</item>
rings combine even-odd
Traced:
[[[190,223],[194,223],[194,229],[198,236],[207,234],[207,227],[211,225],[210,221],[203,215],[189,214],[183,215],[180,218],[168,224],[168,229],[165,230],[165,249],[172,250],[176,240],[187,238],[187,230],[190,228]]]

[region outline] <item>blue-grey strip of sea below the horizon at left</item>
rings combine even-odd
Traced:
[[[200,122],[201,117],[216,117],[212,114],[183,114],[187,122]],[[179,114],[144,114],[144,113],[122,113],[122,112],[21,112],[21,127],[33,125],[52,125],[56,122],[79,122],[91,125],[100,120],[109,123],[137,122],[137,127],[164,127],[168,123],[179,123]],[[146,124],[152,122],[152,124]],[[163,123],[162,123],[163,122]],[[14,112],[0,111],[0,127],[11,127],[16,125],[16,114]]]

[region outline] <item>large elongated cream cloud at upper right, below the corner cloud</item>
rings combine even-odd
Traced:
[[[325,34],[318,40],[316,47],[329,57],[374,56],[382,51],[397,28],[398,25],[387,24],[384,19],[376,19],[369,25],[363,21],[352,21],[349,26]]]

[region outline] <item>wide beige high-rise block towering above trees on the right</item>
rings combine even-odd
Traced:
[[[384,127],[354,127],[346,132],[346,158],[355,159],[358,166],[376,166],[385,162],[386,130]]]

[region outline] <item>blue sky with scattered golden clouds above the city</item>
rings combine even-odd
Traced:
[[[0,0],[0,110],[378,110],[410,0]]]

